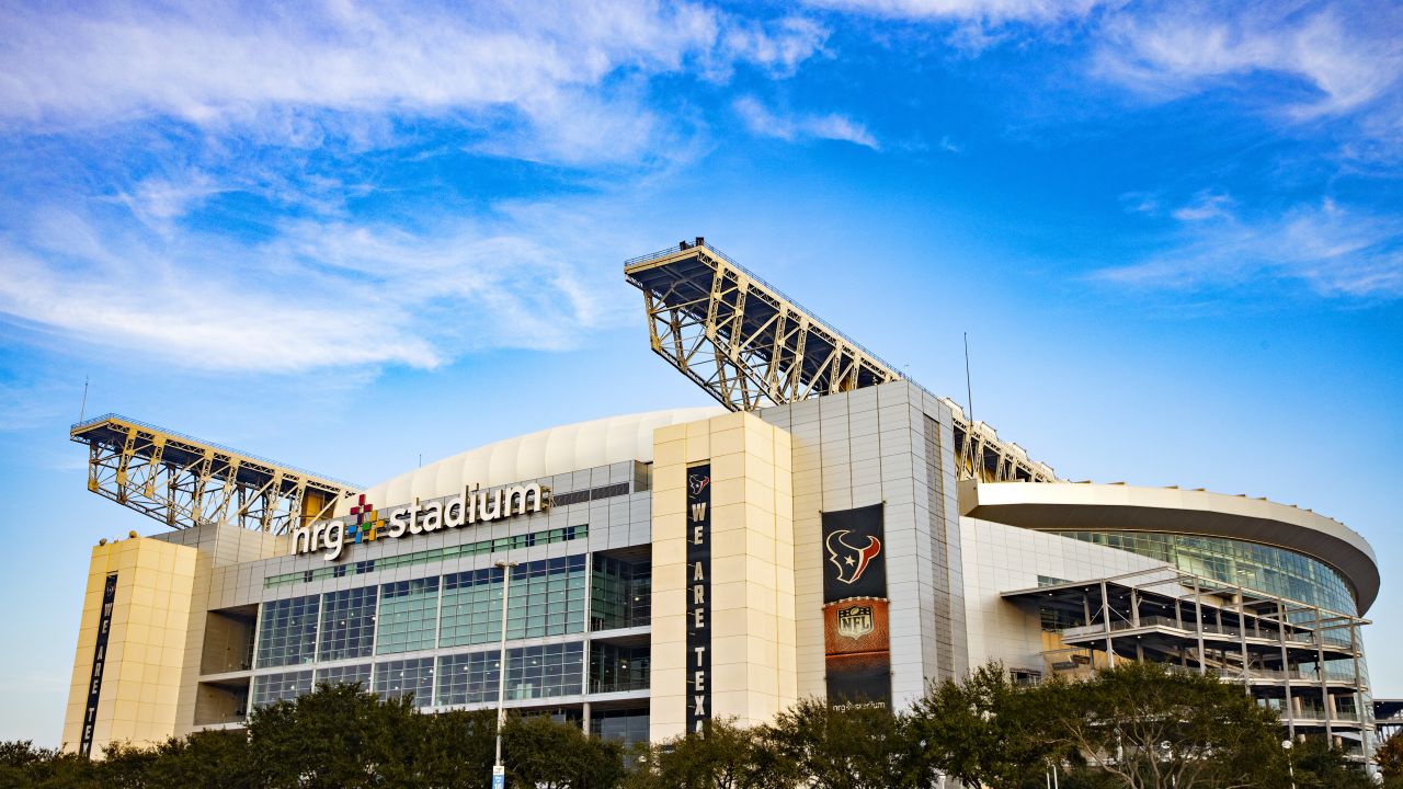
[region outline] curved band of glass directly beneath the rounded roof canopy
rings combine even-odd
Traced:
[[[1228,538],[1149,532],[1054,532],[1128,550],[1173,564],[1186,573],[1319,605],[1351,616],[1354,594],[1340,573],[1294,550]]]

